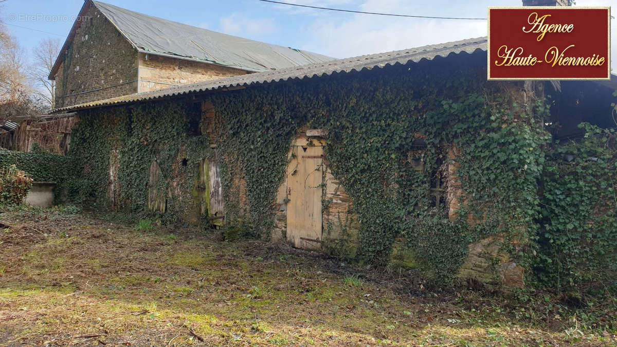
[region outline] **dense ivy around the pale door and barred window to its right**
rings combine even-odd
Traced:
[[[548,139],[544,104],[517,105],[503,86],[477,78],[481,71],[466,65],[431,64],[429,73],[399,67],[213,96],[222,153],[237,157],[246,178],[244,222],[256,235],[273,225],[292,137],[302,126],[325,128],[329,168],[360,221],[358,259],[385,264],[402,236],[429,274],[449,281],[469,243],[500,234],[513,261],[529,262],[524,245],[536,230],[540,146]],[[467,197],[454,221],[447,206],[431,199],[436,182],[446,183],[452,151]],[[236,171],[225,172],[230,188]]]

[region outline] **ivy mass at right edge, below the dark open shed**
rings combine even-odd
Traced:
[[[542,175],[540,286],[617,293],[617,134],[581,124],[579,142],[553,146]]]

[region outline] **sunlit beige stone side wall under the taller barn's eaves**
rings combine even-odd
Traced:
[[[245,70],[139,53],[139,92],[244,75]]]

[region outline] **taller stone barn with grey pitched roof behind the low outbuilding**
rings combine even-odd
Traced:
[[[331,60],[86,0],[49,79],[66,107]]]

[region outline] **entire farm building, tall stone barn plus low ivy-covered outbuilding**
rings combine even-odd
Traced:
[[[556,262],[587,278],[574,254],[617,236],[615,156],[578,145],[614,140],[614,81],[489,82],[486,38],[333,60],[81,14],[51,77],[55,112],[79,119],[65,186],[84,206],[505,286],[562,280]],[[150,22],[186,40],[149,40]]]

